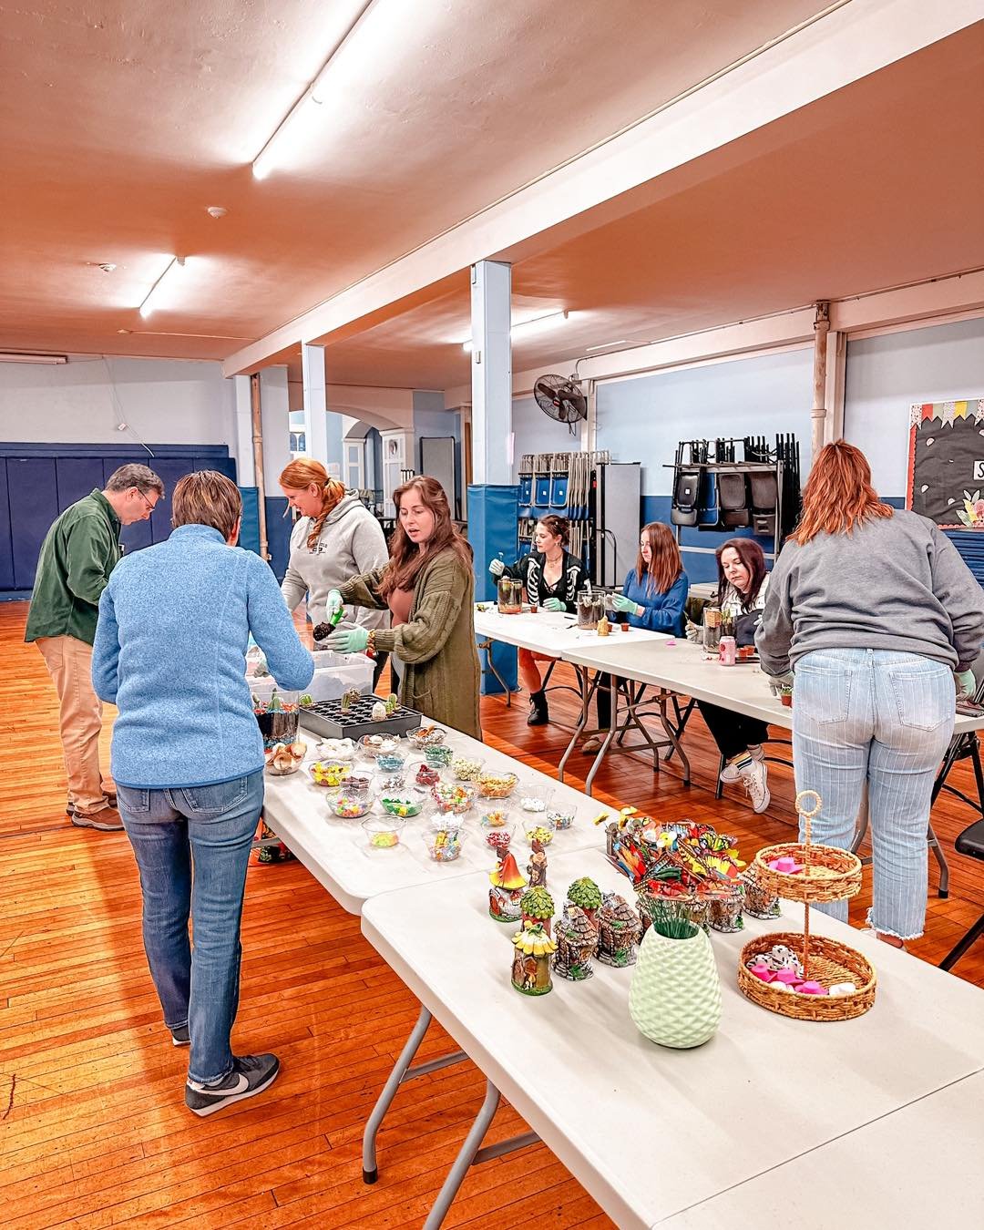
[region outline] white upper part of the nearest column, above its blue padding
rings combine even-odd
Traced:
[[[472,482],[513,481],[512,266],[471,267]]]

